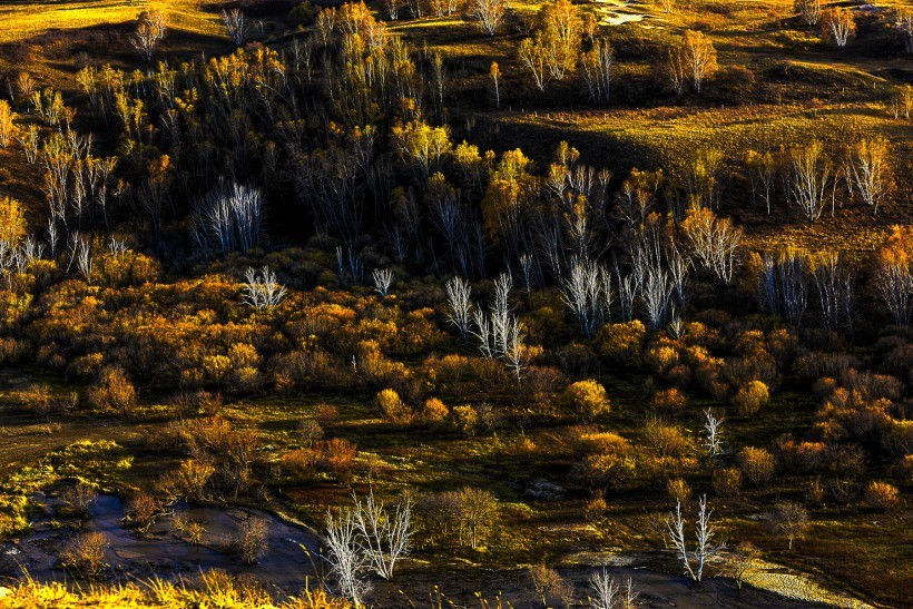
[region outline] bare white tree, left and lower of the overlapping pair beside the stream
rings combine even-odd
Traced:
[[[361,606],[371,591],[371,582],[366,577],[371,559],[363,551],[359,537],[359,522],[352,510],[342,510],[336,518],[327,512],[328,551],[325,558],[330,563],[330,573],[336,580],[340,593],[356,606]]]

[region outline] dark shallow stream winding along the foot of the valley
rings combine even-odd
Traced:
[[[32,530],[24,537],[0,543],[0,585],[23,572],[37,581],[61,581],[72,578],[56,567],[57,556],[76,534],[72,521],[53,520],[56,501],[37,495],[46,505],[46,514],[36,518]],[[313,531],[289,524],[276,515],[247,508],[192,507],[177,503],[170,513],[160,517],[149,531],[138,537],[124,527],[125,505],[114,495],[99,495],[90,509],[90,518],[82,522],[84,532],[100,532],[110,547],[106,559],[108,576],[114,580],[148,580],[153,576],[177,581],[189,579],[203,570],[222,569],[234,574],[249,574],[265,585],[276,598],[285,598],[302,590],[305,578],[312,582],[318,571],[326,571],[317,559],[321,539]],[[190,544],[174,531],[176,515],[203,523],[205,532],[198,544]],[[222,550],[224,541],[244,527],[249,519],[267,523],[268,550],[252,566]],[[315,558],[312,560],[303,550]],[[586,603],[588,579],[597,568],[558,569],[572,586],[575,598]],[[684,577],[659,573],[632,567],[611,569],[620,583],[632,580],[645,607],[814,607],[793,601],[752,587],[737,590],[730,580],[710,579],[695,586]],[[313,583],[312,583],[313,585]],[[432,602],[435,590],[443,595],[442,602]],[[489,570],[467,566],[422,569],[404,562],[393,581],[375,581],[369,602],[376,607],[479,607],[477,592],[488,599],[488,607],[533,609],[541,607],[529,576],[523,569]]]

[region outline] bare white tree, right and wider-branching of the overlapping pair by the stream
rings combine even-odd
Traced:
[[[405,558],[412,547],[412,501],[405,498],[391,511],[374,499],[373,490],[364,503],[356,495],[353,500],[362,551],[379,576],[391,579],[396,562]]]

